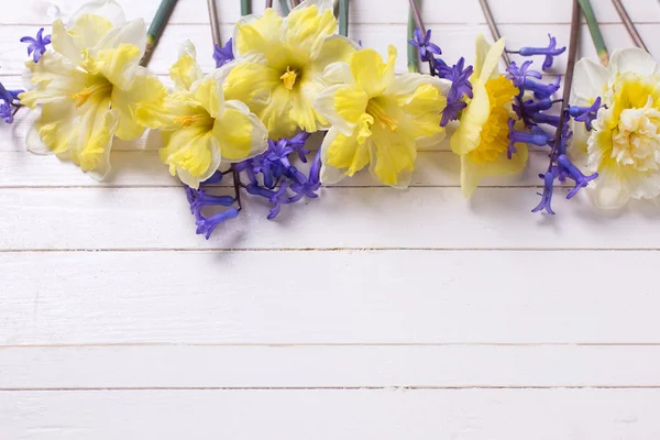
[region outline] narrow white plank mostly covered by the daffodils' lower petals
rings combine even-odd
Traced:
[[[442,146],[448,147],[447,143]],[[41,156],[26,152],[0,152],[0,187],[180,187],[180,182],[172,177],[167,167],[161,163],[156,152],[112,153],[112,172],[103,180],[97,182],[82,173],[72,162],[55,156]],[[296,167],[307,173],[307,164],[295,162]],[[485,178],[483,187],[488,186],[542,186],[537,174],[548,165],[548,154],[532,152],[529,168],[517,175]],[[411,186],[460,186],[460,157],[448,151],[419,152]],[[232,186],[228,175],[220,186]],[[333,186],[383,186],[374,180],[367,170],[353,178],[346,178]]]

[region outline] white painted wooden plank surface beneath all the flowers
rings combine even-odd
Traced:
[[[0,80],[20,84],[20,36],[82,2],[0,0]],[[568,43],[569,0],[491,2],[512,47]],[[624,2],[660,55],[658,1]],[[158,1],[121,3],[148,21]],[[479,1],[424,3],[448,59],[472,59]],[[239,1],[218,7],[227,37]],[[397,46],[403,72],[407,1],[351,8],[352,36]],[[185,37],[209,68],[205,1],[179,0],[155,72]],[[360,176],[275,222],[249,201],[206,241],[157,140],[117,145],[97,184],[26,153],[19,114],[0,125],[1,440],[660,438],[654,206],[535,216],[537,169],[468,202],[441,144],[408,191]]]

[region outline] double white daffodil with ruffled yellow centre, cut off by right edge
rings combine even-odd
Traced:
[[[607,68],[581,59],[575,65],[571,103],[591,106],[597,97],[606,107],[598,111],[591,134],[586,133],[583,124],[574,124],[576,141],[575,148],[571,148],[575,150],[573,158],[578,162],[584,160],[583,165],[598,173],[591,191],[595,205],[618,208],[630,198],[658,200],[658,63],[639,48],[615,51]]]

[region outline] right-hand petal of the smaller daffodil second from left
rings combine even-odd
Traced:
[[[226,111],[216,119],[213,138],[222,157],[243,161],[263,153],[268,145],[268,131],[258,118],[240,101],[227,101]]]

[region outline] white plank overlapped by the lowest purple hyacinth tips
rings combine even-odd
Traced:
[[[229,193],[229,191],[228,191]],[[179,188],[0,189],[0,249],[660,249],[658,208],[608,213],[557,194],[559,216],[532,213],[535,188],[322,188],[286,206],[245,197],[244,215],[205,240]],[[586,195],[583,195],[586,197]],[[118,229],[118,226],[121,226]],[[319,233],[327,228],[332,233]]]

